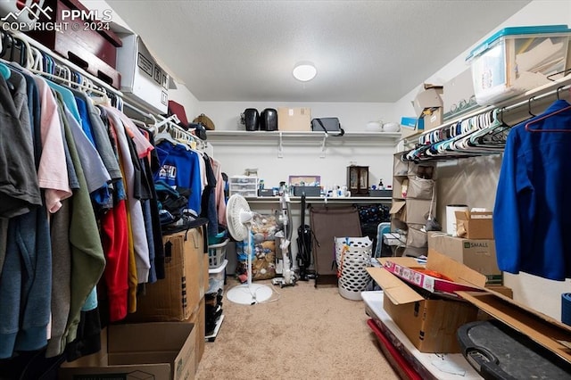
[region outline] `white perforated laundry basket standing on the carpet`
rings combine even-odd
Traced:
[[[339,273],[339,293],[348,300],[362,300],[367,289],[373,242],[365,237],[335,237],[335,260]]]

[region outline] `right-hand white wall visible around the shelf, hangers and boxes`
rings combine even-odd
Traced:
[[[434,73],[430,78],[426,78],[425,82],[443,84],[465,70],[467,66],[464,60],[469,51],[498,29],[508,26],[548,24],[571,25],[571,2],[535,0],[509,20],[491,30],[443,69]],[[414,99],[420,85],[394,104],[397,114],[414,114],[410,101]],[[500,165],[501,156],[495,159],[480,157],[439,164],[437,216],[439,216],[440,221],[445,225],[444,208],[449,203],[462,202],[492,209]],[[570,280],[551,281],[525,273],[505,274],[504,284],[513,289],[514,299],[517,302],[522,302],[556,319],[561,317],[561,293],[567,293],[571,289]]]

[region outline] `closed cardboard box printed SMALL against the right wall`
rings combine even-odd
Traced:
[[[441,233],[428,234],[428,256],[440,252],[486,277],[487,285],[501,285],[501,270],[493,240],[464,239]]]

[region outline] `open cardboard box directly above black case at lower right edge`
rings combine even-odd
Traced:
[[[571,362],[571,351],[568,348],[571,327],[501,293],[459,292],[459,295],[493,318],[527,335],[559,358]]]

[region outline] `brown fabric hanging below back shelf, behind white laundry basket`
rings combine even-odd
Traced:
[[[310,225],[313,230],[313,262],[315,286],[337,278],[335,266],[335,237],[362,236],[359,211],[353,206],[311,207]],[[319,278],[321,277],[321,278]]]

